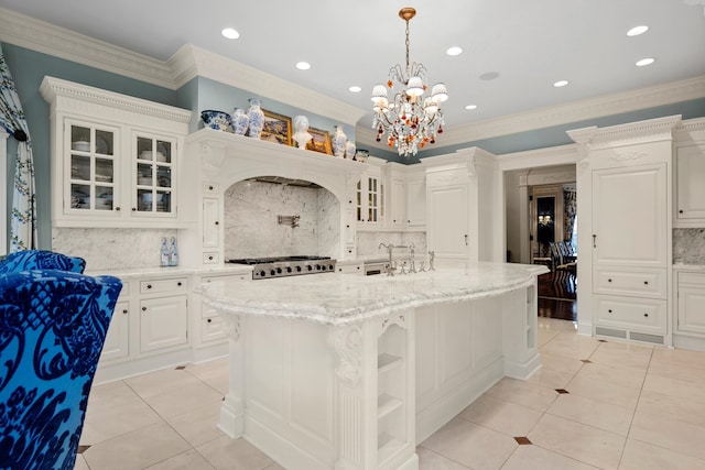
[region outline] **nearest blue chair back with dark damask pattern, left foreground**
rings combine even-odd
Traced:
[[[73,470],[119,278],[0,275],[0,468]]]

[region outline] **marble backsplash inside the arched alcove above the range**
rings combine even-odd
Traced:
[[[226,260],[340,252],[340,205],[326,189],[245,181],[224,205]],[[299,216],[299,227],[278,216]]]

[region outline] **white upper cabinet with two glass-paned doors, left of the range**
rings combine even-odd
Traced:
[[[185,228],[178,212],[191,111],[45,77],[53,227]]]

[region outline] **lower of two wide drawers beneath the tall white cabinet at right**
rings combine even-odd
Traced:
[[[665,300],[616,295],[596,295],[595,299],[596,323],[599,326],[665,335]]]

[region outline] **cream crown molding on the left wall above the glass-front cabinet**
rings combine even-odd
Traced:
[[[0,7],[0,41],[175,89],[166,63]]]

